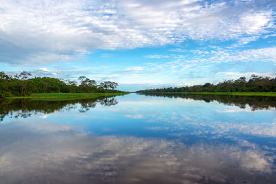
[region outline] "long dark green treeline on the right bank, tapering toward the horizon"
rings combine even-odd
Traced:
[[[237,80],[223,81],[217,85],[205,83],[204,85],[140,90],[137,92],[276,92],[276,78],[253,74],[248,81],[246,81],[245,76],[242,76]]]

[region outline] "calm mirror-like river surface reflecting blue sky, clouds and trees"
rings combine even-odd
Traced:
[[[276,183],[275,98],[0,105],[0,183]]]

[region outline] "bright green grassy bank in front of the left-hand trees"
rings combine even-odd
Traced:
[[[34,93],[30,96],[12,96],[8,99],[96,99],[99,97],[117,96],[124,94],[128,93]]]

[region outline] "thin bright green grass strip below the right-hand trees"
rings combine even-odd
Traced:
[[[233,96],[276,96],[276,92],[152,92],[152,94],[154,93],[155,94],[213,94],[213,95],[233,95]]]

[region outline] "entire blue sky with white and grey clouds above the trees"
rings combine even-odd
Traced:
[[[276,77],[276,1],[1,0],[0,71],[128,91]]]

